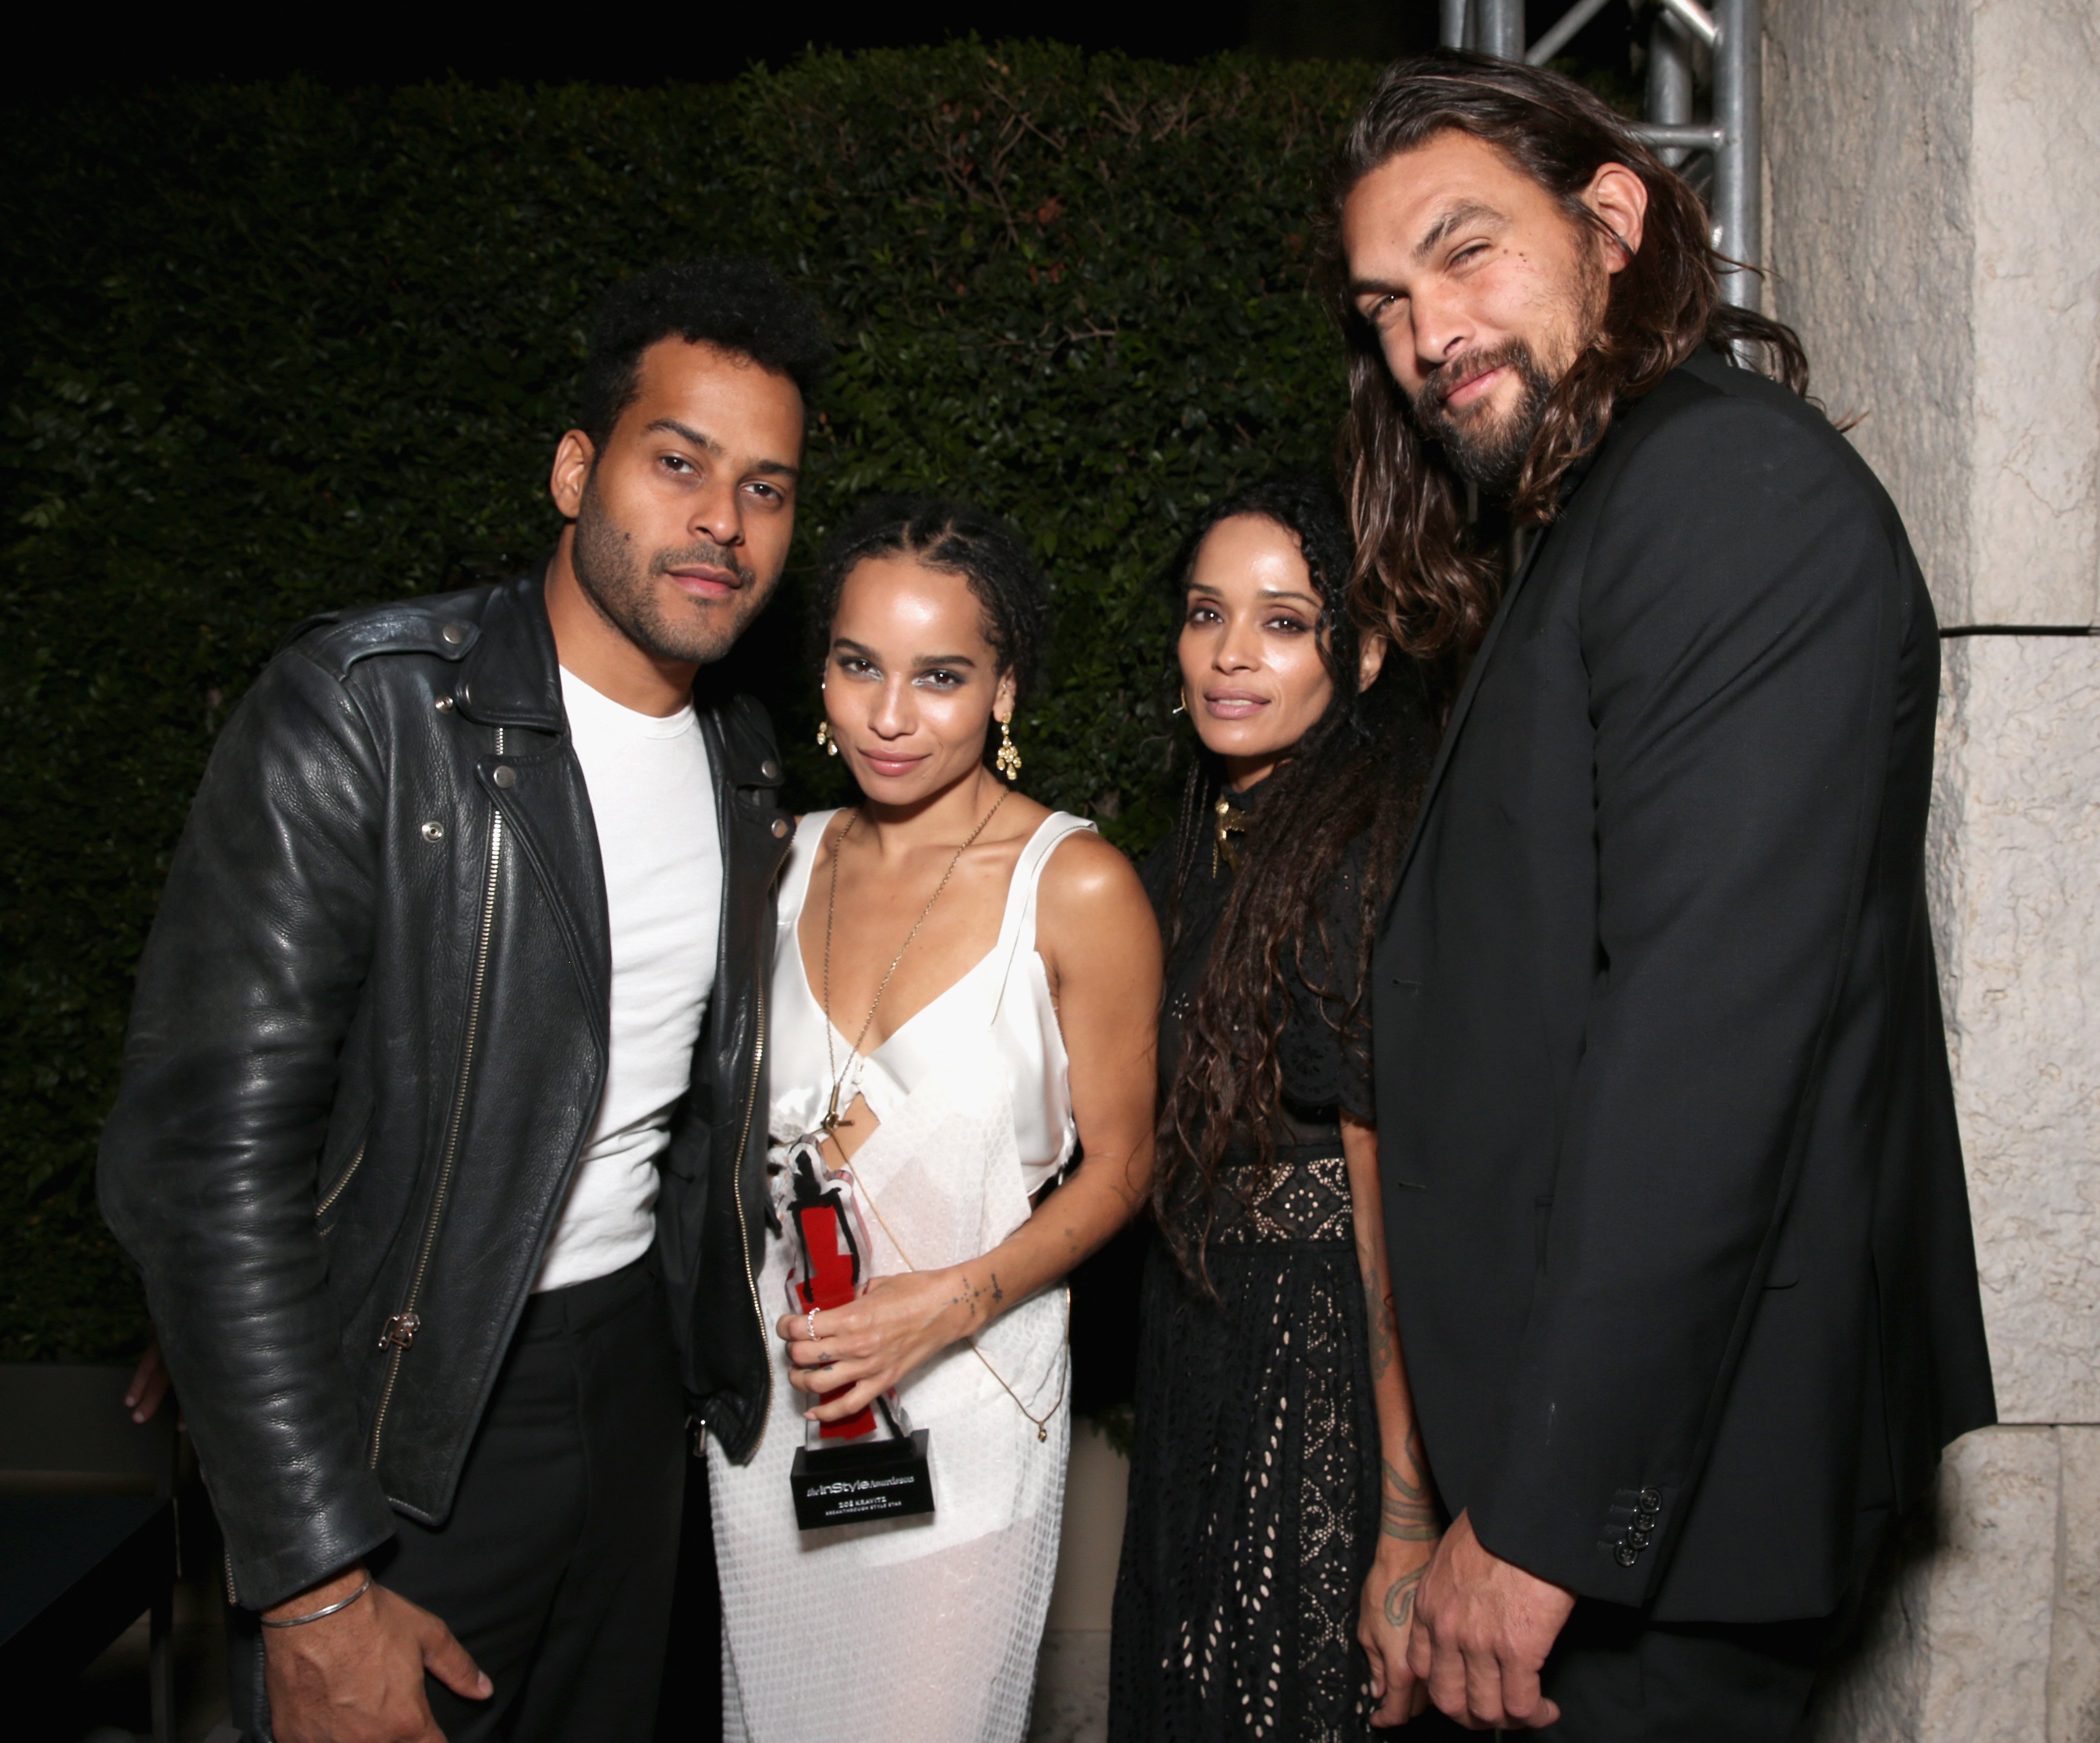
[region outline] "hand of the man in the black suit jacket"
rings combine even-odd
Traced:
[[[1573,1609],[1573,1592],[1502,1560],[1460,1514],[1415,1598],[1407,1663],[1468,1730],[1537,1730],[1560,1718],[1539,1670]]]

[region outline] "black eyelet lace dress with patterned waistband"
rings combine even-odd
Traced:
[[[1144,867],[1155,907],[1170,850]],[[1163,1073],[1231,876],[1222,857],[1212,874],[1208,855],[1191,874],[1168,962]],[[1346,995],[1346,974],[1321,979]],[[1344,1109],[1371,1119],[1369,1035],[1367,1016],[1342,1035],[1317,1004],[1300,987],[1281,1035],[1287,1140],[1218,1193],[1216,1298],[1157,1235],[1147,1256],[1111,1743],[1392,1735],[1369,1728],[1357,1644],[1378,1544],[1378,1415],[1338,1124]]]

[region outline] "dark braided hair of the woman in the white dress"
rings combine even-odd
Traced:
[[[1050,653],[1050,582],[1006,521],[939,496],[876,496],[823,542],[808,601],[811,653],[821,666],[832,649],[838,594],[869,556],[914,556],[928,569],[962,575],[985,613],[985,640],[1014,695],[1035,691]]]

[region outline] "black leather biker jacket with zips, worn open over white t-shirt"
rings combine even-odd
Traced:
[[[437,1522],[605,1082],[598,838],[542,578],[300,626],[227,722],[139,968],[101,1203],[239,1602]],[[794,834],[750,697],[697,697],[714,998],[662,1161],[695,1413],[764,1422],[764,987]]]

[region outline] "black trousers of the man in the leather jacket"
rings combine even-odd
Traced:
[[[403,1518],[372,1558],[374,1575],[441,1617],[496,1684],[487,1701],[464,1701],[424,1680],[449,1743],[651,1735],[678,1571],[682,1434],[670,1317],[649,1260],[527,1302],[452,1516],[437,1529]],[[235,1703],[258,1690],[254,1676]],[[267,1732],[250,1722],[250,1735]]]

